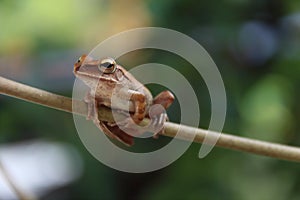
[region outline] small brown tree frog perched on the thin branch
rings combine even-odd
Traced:
[[[167,120],[165,109],[174,101],[170,91],[163,91],[152,98],[150,91],[112,58],[96,60],[82,55],[74,64],[73,72],[90,89],[85,97],[87,118],[92,119],[109,137],[131,146],[133,136],[146,131],[157,135],[163,131]],[[119,123],[101,121],[98,119],[99,106],[127,113],[128,118]],[[150,117],[149,125],[138,126],[145,117]]]

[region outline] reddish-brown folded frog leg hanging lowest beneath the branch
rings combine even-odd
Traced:
[[[110,126],[107,122],[100,121],[101,130],[110,138],[117,139],[127,146],[134,144],[133,137],[122,131],[118,126]]]

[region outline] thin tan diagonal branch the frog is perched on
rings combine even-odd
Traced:
[[[76,109],[72,110],[72,99],[68,97],[36,89],[2,77],[0,77],[0,93],[70,113],[73,112],[83,116],[87,114],[87,105],[81,100],[73,99]],[[111,110],[105,107],[100,107],[99,118],[103,121],[114,121]],[[122,116],[120,116],[120,118],[122,118]],[[145,119],[142,123],[147,124],[147,122],[148,119]],[[194,142],[198,143],[203,142],[206,134],[211,134],[213,137],[218,137],[219,135],[219,133],[214,131],[208,132],[205,129],[193,128],[171,122],[165,123],[165,132],[163,135],[175,137],[179,129],[183,135],[181,139],[195,137]],[[226,133],[222,133],[219,136],[216,145],[228,149],[300,162],[300,148],[298,147],[264,142]]]

